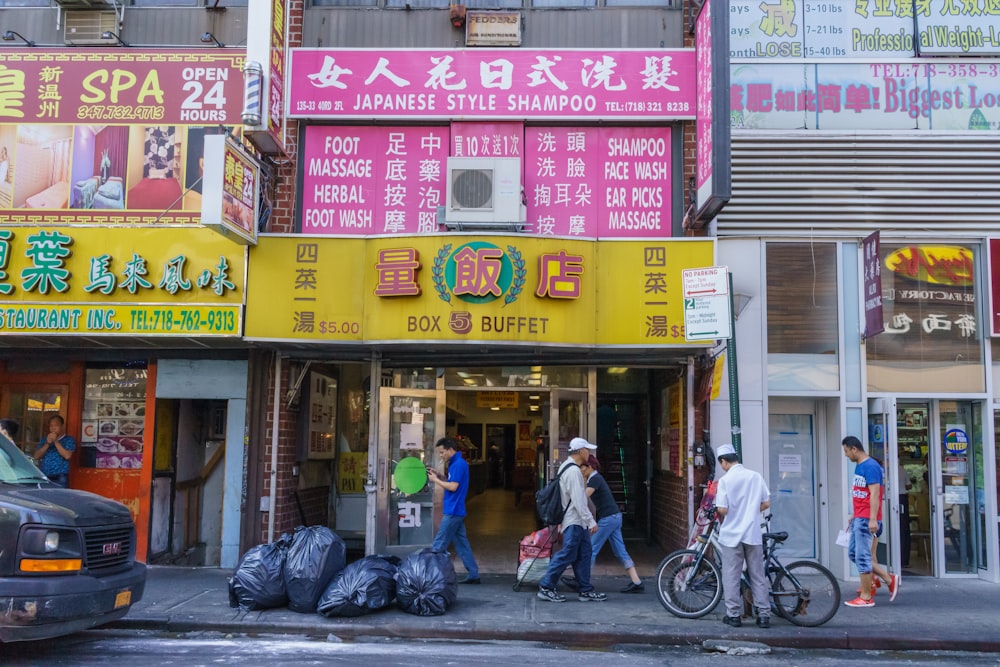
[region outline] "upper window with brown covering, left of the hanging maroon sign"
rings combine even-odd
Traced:
[[[837,390],[839,332],[836,244],[767,244],[768,388]]]

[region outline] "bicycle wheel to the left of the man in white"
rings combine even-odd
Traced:
[[[701,618],[722,599],[722,575],[708,556],[693,549],[675,551],[656,570],[656,596],[681,618]]]

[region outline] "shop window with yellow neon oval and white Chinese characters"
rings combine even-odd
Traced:
[[[868,391],[985,391],[976,247],[883,240],[885,331],[868,339]]]

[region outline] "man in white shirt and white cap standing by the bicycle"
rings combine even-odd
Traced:
[[[757,608],[757,625],[769,628],[771,602],[764,574],[760,513],[771,506],[771,494],[760,473],[743,467],[732,445],[721,445],[715,455],[725,471],[715,493],[716,513],[722,518],[719,544],[722,546],[722,591],[726,600],[726,617],[722,622],[734,628],[743,624],[740,575],[746,562],[753,604]]]

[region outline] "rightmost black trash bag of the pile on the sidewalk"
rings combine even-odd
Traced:
[[[455,566],[448,553],[427,548],[407,556],[396,571],[396,599],[408,614],[444,614],[458,599]]]

